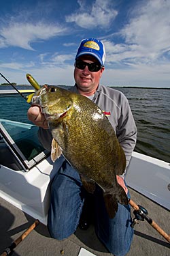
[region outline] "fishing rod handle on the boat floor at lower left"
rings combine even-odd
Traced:
[[[33,229],[35,229],[35,227],[37,227],[37,225],[39,225],[39,220],[35,220],[35,222],[26,231],[24,231],[24,233],[22,233],[21,236],[19,236],[14,242],[12,242],[12,244],[9,247],[7,247],[0,256],[11,255],[14,248],[16,248],[16,246],[20,244],[20,242],[22,242],[24,238],[26,238],[29,235],[29,233],[33,231]]]

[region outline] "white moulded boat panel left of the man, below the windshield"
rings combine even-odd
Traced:
[[[50,181],[56,174],[50,157],[28,172],[14,171],[1,165],[0,197],[46,224],[50,203]]]

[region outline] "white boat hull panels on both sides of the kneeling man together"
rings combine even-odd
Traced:
[[[1,165],[0,197],[46,225],[50,181],[56,174],[56,169],[56,162],[52,163],[50,157],[28,172],[14,171]],[[133,152],[126,173],[126,183],[170,210],[169,163]]]

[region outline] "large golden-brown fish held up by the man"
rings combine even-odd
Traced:
[[[126,158],[103,111],[80,94],[47,85],[37,91],[33,104],[40,105],[48,119],[56,143],[53,151],[59,146],[80,173],[88,191],[94,191],[95,183],[103,189],[107,212],[113,218],[118,210],[117,202],[128,203],[126,193],[116,180],[116,175],[124,173]]]

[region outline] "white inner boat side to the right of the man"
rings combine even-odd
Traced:
[[[168,162],[133,152],[126,172],[130,188],[170,210],[170,165]]]

